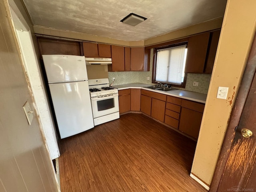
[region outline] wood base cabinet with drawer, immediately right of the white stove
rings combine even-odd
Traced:
[[[118,91],[119,113],[128,112],[131,110],[131,92],[130,89]]]

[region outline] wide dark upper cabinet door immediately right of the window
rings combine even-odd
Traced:
[[[188,38],[185,72],[203,73],[210,32]]]

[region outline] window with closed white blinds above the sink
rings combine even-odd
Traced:
[[[155,82],[183,87],[186,80],[184,73],[187,44],[167,48],[156,48]]]

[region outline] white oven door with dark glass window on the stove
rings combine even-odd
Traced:
[[[93,118],[119,112],[118,93],[92,97]]]

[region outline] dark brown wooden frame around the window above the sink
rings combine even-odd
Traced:
[[[178,42],[178,43],[164,45],[164,46],[158,46],[158,47],[154,48],[154,52],[153,52],[153,69],[152,69],[152,83],[157,84],[159,82],[159,81],[156,81],[157,50],[166,49],[166,48],[172,48],[172,47],[177,47],[177,46],[182,46],[182,45],[188,45],[188,41]],[[184,79],[183,79],[183,82],[182,82],[181,85],[171,84],[171,83],[166,83],[166,82],[160,82],[160,83],[169,84],[172,87],[185,88],[186,80],[187,80],[187,74],[188,73],[185,72]]]

